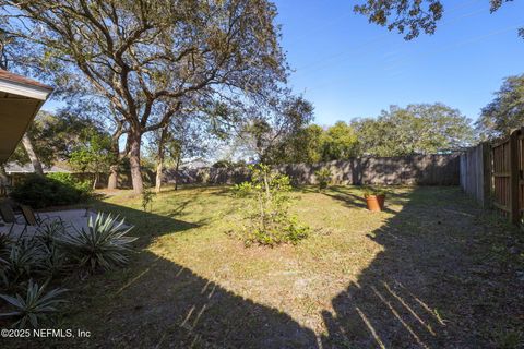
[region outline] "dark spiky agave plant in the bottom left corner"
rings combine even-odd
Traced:
[[[15,308],[12,312],[2,313],[0,316],[14,317],[15,322],[12,327],[26,328],[28,322],[34,328],[38,328],[39,321],[46,320],[49,313],[57,312],[57,305],[66,302],[59,298],[67,291],[66,289],[57,288],[45,293],[46,286],[47,282],[39,287],[33,279],[29,279],[25,299],[17,293],[15,297],[0,294],[0,298]]]

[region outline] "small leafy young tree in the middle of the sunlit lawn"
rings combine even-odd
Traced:
[[[247,245],[297,243],[309,234],[309,227],[300,225],[289,214],[291,186],[287,176],[271,171],[266,165],[250,166],[251,182],[235,186],[239,197],[247,202],[242,239]]]

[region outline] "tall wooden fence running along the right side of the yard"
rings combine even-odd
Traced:
[[[524,128],[461,155],[461,186],[484,207],[520,225],[524,210]]]

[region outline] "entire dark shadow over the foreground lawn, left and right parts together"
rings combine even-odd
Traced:
[[[464,205],[460,203],[455,209],[453,201],[461,194],[443,189],[428,197],[424,191],[392,197],[405,202],[403,209],[369,234],[384,251],[332,300],[333,311],[322,313],[327,332],[321,337],[277,309],[236,296],[144,249],[122,272],[123,279],[108,281],[100,276],[94,280],[95,292],[105,289],[96,297],[110,303],[110,311],[98,305],[83,314],[82,324],[94,326],[87,328],[93,337],[78,339],[79,344],[122,348],[486,347],[481,335],[486,328],[476,326],[511,325],[515,317],[510,318],[509,308],[517,314],[522,304],[504,294],[519,290],[504,284],[502,276],[500,280],[490,276],[488,281],[487,276],[472,274],[484,262],[467,253],[475,249],[472,239],[478,236],[469,229],[474,216],[461,215]],[[451,204],[432,206],[436,202]],[[183,233],[205,224],[107,203],[99,208],[118,210],[136,225],[142,231],[140,248],[160,234]],[[90,304],[84,306],[85,311]]]

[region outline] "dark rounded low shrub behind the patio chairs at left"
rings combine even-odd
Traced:
[[[88,197],[91,188],[87,189],[85,183],[61,180],[31,174],[14,186],[11,197],[35,208],[76,204]]]

